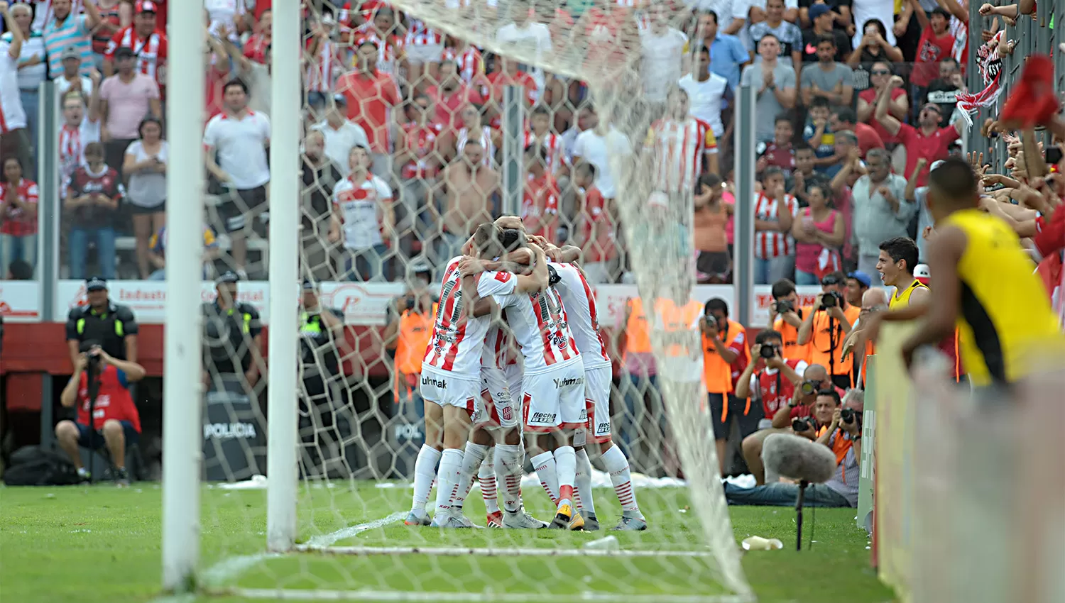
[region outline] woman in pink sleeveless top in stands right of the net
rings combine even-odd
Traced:
[[[828,189],[810,186],[806,195],[809,206],[791,224],[797,285],[816,285],[826,273],[842,268],[839,247],[846,235],[843,216],[829,206]]]

